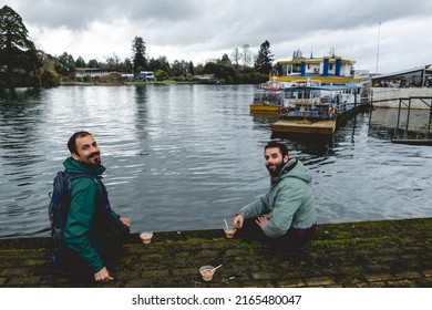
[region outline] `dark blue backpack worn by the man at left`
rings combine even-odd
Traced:
[[[85,174],[70,174],[58,172],[53,182],[51,200],[48,206],[48,215],[51,224],[52,261],[58,261],[58,251],[63,245],[63,230],[66,225],[69,209],[71,207],[71,183],[79,177],[92,176]]]

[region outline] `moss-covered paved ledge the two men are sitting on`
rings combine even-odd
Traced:
[[[198,269],[223,264],[212,281]],[[287,257],[224,231],[130,236],[106,285],[71,281],[52,266],[48,238],[0,239],[0,287],[432,287],[432,218],[318,225]]]

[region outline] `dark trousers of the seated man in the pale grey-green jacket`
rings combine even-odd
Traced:
[[[254,219],[245,219],[243,228],[237,229],[236,237],[245,240],[257,240],[269,245],[272,249],[281,252],[290,252],[300,249],[313,236],[317,225],[309,228],[290,228],[288,231],[276,238],[268,237]]]

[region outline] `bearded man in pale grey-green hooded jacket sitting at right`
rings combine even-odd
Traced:
[[[289,158],[282,143],[269,142],[264,155],[270,189],[243,207],[233,225],[237,237],[258,239],[289,252],[304,246],[317,226],[312,175],[301,162]]]

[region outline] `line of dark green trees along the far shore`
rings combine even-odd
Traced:
[[[88,62],[64,52],[53,56],[38,50],[29,39],[22,18],[10,7],[0,9],[0,89],[18,86],[58,86],[62,82],[75,82],[78,69],[101,69],[107,72],[136,74],[153,71],[156,81],[194,81],[194,76],[213,74],[214,81],[223,84],[257,84],[268,80],[272,71],[270,43],[266,40],[253,60],[249,45],[234,49],[230,58],[195,65],[192,61],[166,56],[150,58],[141,37],[132,40],[132,56],[123,61],[113,53],[105,62],[94,59]]]

